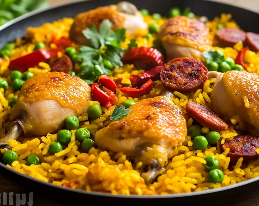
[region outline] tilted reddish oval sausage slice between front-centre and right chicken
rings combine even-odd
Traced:
[[[188,102],[186,112],[204,127],[218,132],[228,129],[228,124],[206,106],[196,102]]]

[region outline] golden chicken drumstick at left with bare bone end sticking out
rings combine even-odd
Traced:
[[[68,116],[84,113],[89,101],[91,88],[76,76],[63,72],[35,75],[19,92],[10,115],[11,128],[0,140],[0,147],[8,147],[8,140],[16,139],[22,131],[37,136],[55,133]]]

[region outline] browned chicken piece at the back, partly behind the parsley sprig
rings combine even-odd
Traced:
[[[78,14],[69,32],[70,39],[77,44],[87,45],[89,41],[85,38],[82,31],[91,24],[95,24],[99,28],[105,19],[110,20],[114,30],[126,28],[127,33],[134,33],[139,28],[147,29],[147,24],[137,8],[128,2],[120,2],[117,5],[98,7],[97,9]]]

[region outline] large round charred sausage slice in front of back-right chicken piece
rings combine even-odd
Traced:
[[[163,66],[160,79],[170,91],[192,92],[204,85],[208,70],[196,59],[175,58]]]

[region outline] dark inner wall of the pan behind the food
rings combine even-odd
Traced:
[[[171,7],[191,7],[198,16],[207,16],[213,19],[215,16],[220,16],[221,13],[232,13],[233,19],[240,25],[240,27],[249,32],[259,33],[259,14],[234,7],[227,4],[221,4],[203,0],[128,0],[135,4],[138,9],[146,8],[150,13],[158,12],[163,16],[168,16]],[[40,26],[45,22],[52,22],[63,17],[75,17],[76,14],[90,9],[95,9],[98,6],[118,3],[118,0],[95,0],[83,1],[74,4],[64,5],[44,12],[37,13],[20,21],[13,20],[14,23],[6,27],[0,27],[0,48],[7,42],[23,37],[26,34],[28,26]],[[7,24],[9,25],[9,24]],[[4,28],[6,27],[6,28]],[[1,29],[3,28],[3,29]]]

